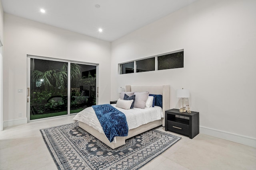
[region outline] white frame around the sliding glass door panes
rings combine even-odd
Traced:
[[[27,121],[38,121],[38,120],[44,120],[44,119],[52,119],[55,117],[64,117],[69,115],[74,115],[76,113],[70,114],[70,74],[68,74],[68,114],[67,115],[60,115],[60,116],[54,116],[54,117],[46,117],[41,119],[34,119],[30,120],[30,59],[42,59],[42,60],[50,60],[50,61],[60,61],[60,62],[66,62],[68,63],[68,70],[70,70],[70,63],[76,63],[76,64],[86,64],[86,65],[93,65],[96,66],[96,94],[98,94],[98,66],[99,64],[95,63],[86,63],[82,61],[73,61],[73,60],[65,60],[65,59],[55,59],[50,57],[41,57],[41,56],[35,56],[35,55],[27,55],[27,89],[26,89],[26,100],[27,100]],[[98,104],[98,95],[96,95],[96,104]]]

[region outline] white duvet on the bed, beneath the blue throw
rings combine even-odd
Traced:
[[[115,107],[116,104],[112,104],[112,106]],[[126,116],[129,130],[152,121],[160,120],[162,117],[164,117],[162,108],[159,106],[145,107],[145,109],[133,108],[129,110],[121,109],[119,107],[115,108],[120,110]],[[100,121],[98,120],[98,117],[96,116],[92,107],[87,107],[86,109],[77,113],[73,120],[81,121],[104,134]],[[116,140],[114,139],[114,143],[115,141]]]

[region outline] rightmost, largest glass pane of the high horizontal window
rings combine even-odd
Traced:
[[[183,51],[158,56],[158,70],[184,67]]]

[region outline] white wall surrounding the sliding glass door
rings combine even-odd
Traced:
[[[99,104],[109,103],[109,42],[6,13],[4,39],[4,122],[26,120],[27,55],[98,63],[98,101]],[[18,89],[23,89],[23,93],[18,93]]]

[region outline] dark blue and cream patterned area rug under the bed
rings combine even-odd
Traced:
[[[59,170],[137,170],[181,139],[152,129],[111,149],[78,123],[40,131]]]

